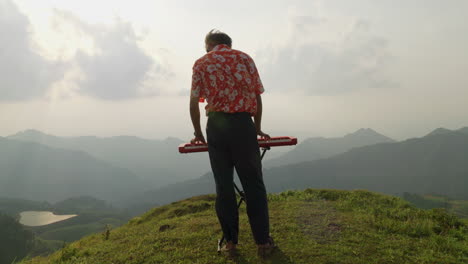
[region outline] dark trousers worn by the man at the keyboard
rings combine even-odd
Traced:
[[[267,194],[257,132],[250,114],[211,112],[206,134],[216,183],[216,214],[226,241],[238,243],[239,214],[233,185],[235,168],[245,192],[255,242],[267,243],[270,233]]]

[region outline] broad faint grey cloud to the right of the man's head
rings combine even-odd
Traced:
[[[334,95],[394,86],[385,75],[387,40],[359,19],[292,16],[286,42],[263,53],[265,82],[278,92]]]

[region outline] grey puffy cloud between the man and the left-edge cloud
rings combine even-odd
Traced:
[[[104,100],[158,94],[160,87],[149,84],[148,79],[164,79],[171,74],[166,65],[139,46],[140,39],[130,23],[117,19],[112,25],[88,24],[64,11],[56,11],[56,16],[93,42],[91,52],[79,49],[73,58],[81,71],[77,93]]]

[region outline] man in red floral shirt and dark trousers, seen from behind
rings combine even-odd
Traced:
[[[267,194],[257,141],[257,135],[269,138],[261,129],[264,89],[252,58],[231,49],[231,45],[227,34],[210,31],[205,38],[207,54],[193,66],[190,116],[195,138],[192,143],[206,143],[198,105],[206,99],[206,134],[216,184],[216,214],[227,241],[222,251],[233,255],[238,243],[235,168],[245,192],[258,253],[264,256],[275,247],[269,234]]]

